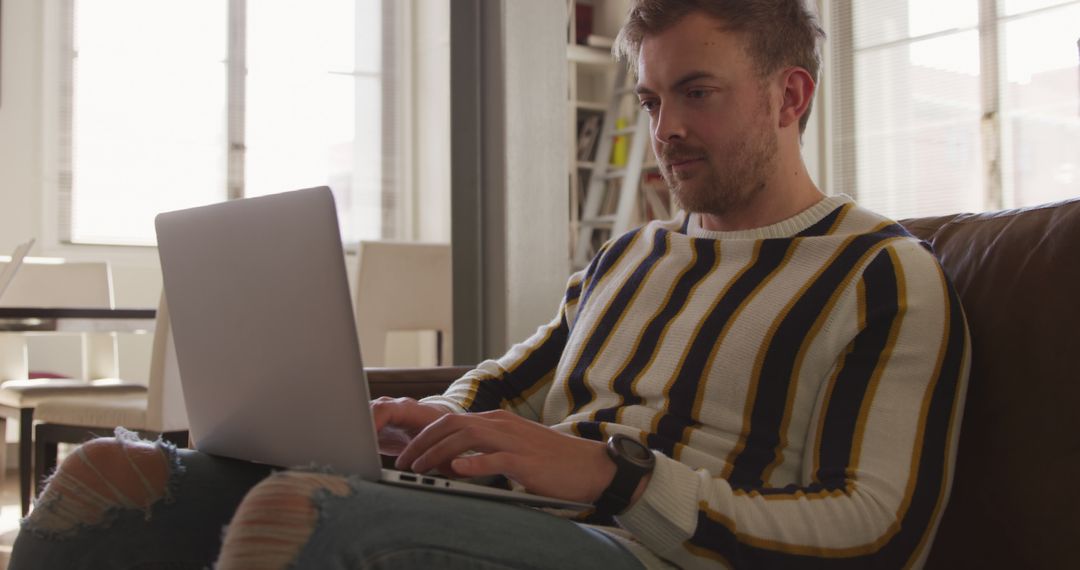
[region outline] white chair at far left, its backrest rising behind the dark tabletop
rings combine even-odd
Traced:
[[[108,263],[26,260],[12,280],[2,307],[112,308],[112,281]],[[32,479],[32,425],[35,408],[54,397],[103,394],[145,394],[146,386],[118,379],[117,338],[113,332],[83,332],[79,378],[29,378],[27,337],[0,332],[0,433],[8,418],[18,418],[19,494],[23,513],[29,508]],[[4,461],[0,446],[0,464]]]

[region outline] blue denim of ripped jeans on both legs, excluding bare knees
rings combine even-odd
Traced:
[[[212,567],[222,529],[270,469],[190,450],[176,453],[179,469],[168,500],[148,512],[117,510],[100,525],[65,533],[42,532],[28,518],[9,568]],[[347,496],[316,493],[319,518],[292,568],[642,568],[603,532],[541,511],[349,483]]]

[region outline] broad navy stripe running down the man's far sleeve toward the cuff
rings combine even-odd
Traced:
[[[522,397],[558,365],[568,334],[569,327],[564,314],[558,327],[513,371],[498,378],[481,380],[476,386],[476,396],[467,409],[469,411],[499,409],[504,403]]]

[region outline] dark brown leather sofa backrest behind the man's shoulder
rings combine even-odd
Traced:
[[[971,379],[930,568],[1080,559],[1080,200],[904,220],[960,295]]]

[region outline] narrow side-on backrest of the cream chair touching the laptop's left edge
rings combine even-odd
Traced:
[[[188,411],[180,386],[180,367],[176,362],[173,327],[168,318],[165,294],[158,303],[153,326],[153,349],[150,355],[150,379],[147,384],[147,430],[175,432],[188,429]]]

